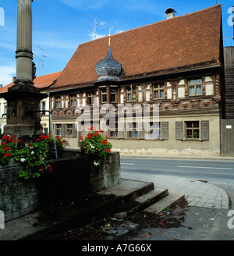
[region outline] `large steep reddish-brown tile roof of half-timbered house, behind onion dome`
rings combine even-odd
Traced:
[[[121,80],[196,65],[219,64],[221,5],[112,35],[112,55],[122,63]],[[51,91],[97,80],[95,66],[108,51],[108,37],[80,44]]]

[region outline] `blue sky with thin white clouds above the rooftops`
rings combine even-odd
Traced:
[[[232,38],[228,37],[233,36],[229,11],[234,2],[217,2],[222,4],[224,45],[233,46]],[[109,30],[116,34],[165,20],[168,7],[176,9],[176,16],[180,16],[215,4],[216,0],[34,0],[33,52],[37,76],[62,71],[79,44],[107,36]],[[4,26],[0,26],[0,84],[5,86],[16,75],[17,1],[1,0],[0,8],[5,14]]]

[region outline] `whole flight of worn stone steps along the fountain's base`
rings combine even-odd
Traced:
[[[40,211],[6,222],[0,240],[43,240],[59,230],[74,229],[106,216],[123,219],[139,211],[158,213],[183,200],[184,195],[170,194],[154,183],[121,179],[115,187],[61,204],[50,221],[38,219]]]

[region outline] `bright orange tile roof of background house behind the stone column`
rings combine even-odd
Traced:
[[[58,79],[58,77],[61,75],[62,71],[59,72],[55,72],[55,73],[50,73],[48,75],[44,75],[44,76],[37,76],[34,79],[34,86],[37,88],[45,88],[45,87],[49,87],[54,80]],[[0,89],[0,94],[7,92],[9,87],[12,87],[14,83],[8,84],[5,87],[2,87]]]

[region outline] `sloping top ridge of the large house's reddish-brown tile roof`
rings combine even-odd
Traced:
[[[205,9],[201,9],[199,11],[196,11],[196,12],[190,12],[190,13],[186,13],[186,14],[183,14],[183,15],[180,15],[180,16],[176,16],[176,17],[173,17],[172,19],[165,19],[165,20],[159,20],[157,22],[154,22],[154,23],[151,23],[151,24],[147,24],[147,25],[144,25],[144,26],[141,26],[141,27],[135,27],[133,29],[130,29],[130,30],[126,30],[126,31],[122,31],[122,32],[119,32],[117,34],[112,34],[112,37],[115,37],[115,36],[118,36],[119,34],[126,34],[126,33],[129,33],[130,31],[133,31],[133,30],[141,30],[145,27],[151,27],[151,26],[155,26],[156,24],[159,24],[159,23],[165,23],[165,22],[171,22],[173,20],[179,20],[185,16],[191,16],[191,15],[195,15],[197,13],[200,13],[200,12],[206,12],[207,10],[209,9],[216,9],[218,7],[221,7],[221,4],[218,4],[218,5],[212,5],[210,7],[207,7]],[[97,38],[97,39],[94,39],[94,40],[91,40],[91,41],[87,41],[87,42],[84,42],[80,45],[83,45],[83,44],[90,44],[94,41],[101,41],[101,40],[104,40],[104,39],[108,39],[109,36],[105,36],[105,37],[100,37],[100,38]],[[79,46],[80,46],[79,45]],[[78,47],[79,48],[79,47]]]

